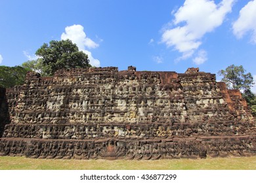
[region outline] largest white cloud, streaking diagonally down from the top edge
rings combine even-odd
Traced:
[[[223,0],[216,5],[210,0],[186,0],[174,13],[173,25],[176,27],[165,29],[161,42],[182,53],[178,60],[192,57],[202,44],[203,35],[223,24],[226,14],[232,10],[234,1]],[[204,61],[201,59],[198,63]]]

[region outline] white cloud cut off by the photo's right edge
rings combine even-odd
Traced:
[[[251,42],[256,44],[256,0],[249,1],[239,14],[238,20],[233,24],[233,33],[241,39],[245,33],[251,31]]]

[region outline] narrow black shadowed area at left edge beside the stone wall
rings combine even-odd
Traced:
[[[0,138],[3,135],[5,125],[10,123],[6,89],[0,88]]]

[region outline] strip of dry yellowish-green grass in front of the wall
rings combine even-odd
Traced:
[[[0,170],[256,170],[256,156],[249,158],[75,160],[0,157]]]

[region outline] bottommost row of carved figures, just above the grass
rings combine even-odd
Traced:
[[[49,159],[175,159],[250,156],[256,153],[250,139],[225,141],[0,141],[0,156]]]

